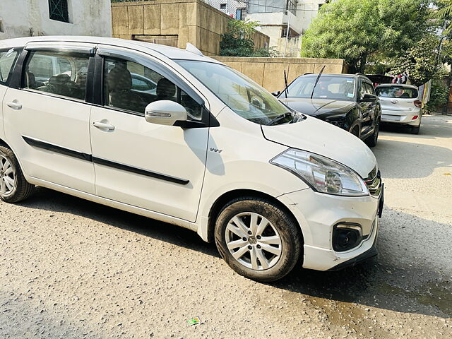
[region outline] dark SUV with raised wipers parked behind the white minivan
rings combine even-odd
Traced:
[[[350,131],[370,147],[376,145],[381,106],[371,81],[361,74],[322,74],[316,83],[317,78],[318,74],[299,76],[278,93],[278,99],[298,112]]]

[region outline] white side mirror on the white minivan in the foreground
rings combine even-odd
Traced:
[[[187,113],[184,106],[177,102],[158,100],[146,106],[144,117],[153,124],[173,126],[176,121],[186,121]]]

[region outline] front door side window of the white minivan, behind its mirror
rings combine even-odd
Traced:
[[[178,102],[191,119],[201,119],[201,105],[160,73],[133,61],[105,58],[104,106],[144,115],[145,107],[158,100]]]

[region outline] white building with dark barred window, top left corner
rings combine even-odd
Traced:
[[[112,35],[110,0],[0,0],[0,39]]]

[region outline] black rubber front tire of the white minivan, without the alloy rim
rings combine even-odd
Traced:
[[[258,213],[271,222],[273,225],[271,227],[278,230],[281,250],[273,266],[260,270],[248,268],[234,258],[227,248],[226,227],[230,220],[240,213]],[[239,275],[260,282],[271,282],[283,278],[294,268],[302,254],[303,239],[299,225],[290,213],[266,198],[245,196],[230,201],[218,214],[215,223],[215,244],[222,258]],[[261,248],[258,244],[255,246]],[[248,249],[249,247],[247,246]],[[251,256],[251,251],[249,255]]]

